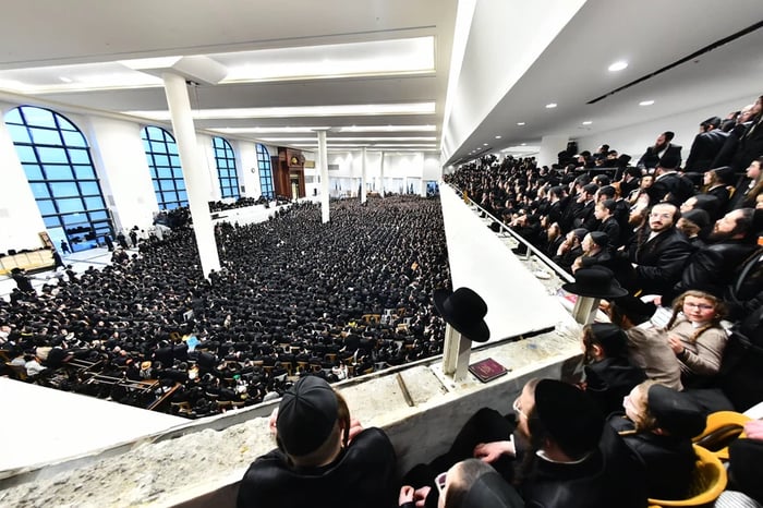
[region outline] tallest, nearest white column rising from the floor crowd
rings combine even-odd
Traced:
[[[164,73],[161,77],[165,81],[172,130],[178,142],[180,164],[183,167],[183,178],[187,188],[189,208],[193,217],[193,231],[198,246],[198,257],[202,259],[202,271],[205,277],[208,277],[209,271],[220,269],[215,229],[209,216],[209,178],[204,174],[204,166],[196,144],[196,131],[191,117],[185,78],[172,73]]]

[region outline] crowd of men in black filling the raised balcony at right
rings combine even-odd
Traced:
[[[698,178],[681,170],[671,137],[661,134],[638,166],[605,145],[593,156],[562,152],[552,168],[485,156],[445,179],[571,274],[604,266],[631,294],[666,306],[688,289],[707,291],[738,319],[763,304],[760,269],[746,269],[760,265],[763,158]]]

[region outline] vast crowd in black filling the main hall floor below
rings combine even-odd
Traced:
[[[65,390],[140,407],[172,390],[164,409],[190,418],[279,397],[308,372],[337,380],[441,352],[438,199],[334,202],[327,223],[318,205],[293,204],[216,238],[222,267],[208,278],[180,228],[40,294],[14,291],[0,300],[0,349]],[[101,383],[114,379],[132,385]],[[146,379],[157,388],[131,388]]]

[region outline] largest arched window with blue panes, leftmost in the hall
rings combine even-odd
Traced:
[[[83,251],[107,233],[113,237],[82,132],[63,116],[33,106],[12,109],[4,120],[53,244],[64,240],[73,252]]]

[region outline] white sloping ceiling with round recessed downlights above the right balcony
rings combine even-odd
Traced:
[[[743,97],[753,100],[763,92],[761,28],[588,104],[761,21],[760,0],[589,0],[477,125],[464,129],[463,138],[449,143],[449,130],[459,125],[446,125],[444,161],[470,159],[469,152],[484,143],[483,152],[497,152],[536,144],[544,135],[574,138]],[[516,40],[513,29],[508,33],[500,38]],[[609,72],[617,61],[628,66]],[[491,76],[492,70],[485,71],[482,80]],[[647,99],[653,107],[639,106]],[[557,107],[545,107],[552,102]]]

